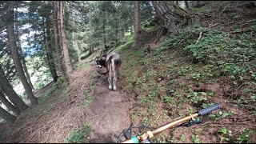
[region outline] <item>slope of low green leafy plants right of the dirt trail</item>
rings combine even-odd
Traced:
[[[250,26],[255,30],[255,23]],[[256,49],[252,33],[229,34],[194,25],[169,35],[150,54],[126,43],[122,90],[135,95],[130,114],[136,125],[158,127],[214,103],[221,110],[202,124],[166,131],[154,142],[256,142]]]

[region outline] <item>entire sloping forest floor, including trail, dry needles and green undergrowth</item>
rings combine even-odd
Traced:
[[[188,14],[179,34],[159,35],[161,26],[149,22],[140,46],[128,35],[113,47],[122,57],[118,91],[96,72],[96,50],[69,86],[60,78],[12,129],[2,125],[2,142],[115,142],[130,123],[156,128],[214,103],[221,110],[202,124],[153,142],[256,142],[256,6],[210,2]]]

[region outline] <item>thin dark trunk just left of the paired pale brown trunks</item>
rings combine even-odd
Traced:
[[[52,41],[51,41],[51,37],[50,37],[50,23],[49,23],[49,19],[46,20],[46,39],[48,42],[48,49],[47,49],[47,59],[50,65],[50,74],[52,76],[52,78],[54,79],[54,82],[57,82],[58,80],[58,74],[56,72],[56,66],[54,64],[54,56],[53,56],[53,46],[52,46]]]

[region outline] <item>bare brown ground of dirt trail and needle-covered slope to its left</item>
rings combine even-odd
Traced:
[[[128,113],[133,97],[119,90],[120,82],[117,91],[108,90],[106,75],[96,72],[94,61],[88,62],[95,54],[82,60],[83,66],[74,70],[69,86],[58,87],[46,102],[27,109],[13,129],[4,131],[8,126],[2,125],[2,142],[62,143],[81,127],[88,132],[82,137],[83,142],[116,142],[122,130],[130,126]],[[50,82],[35,96],[45,97],[53,85]],[[74,138],[66,142],[76,140],[79,141]]]

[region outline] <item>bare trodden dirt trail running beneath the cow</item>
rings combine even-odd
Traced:
[[[108,90],[107,76],[98,74],[95,64],[90,63],[95,72],[93,102],[86,108],[92,129],[90,142],[115,142],[122,130],[130,126],[128,112],[133,100],[120,90],[121,78],[117,91]]]

